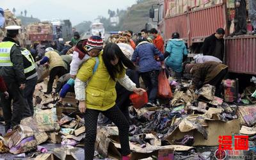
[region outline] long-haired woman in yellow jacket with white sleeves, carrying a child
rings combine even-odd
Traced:
[[[95,65],[98,65],[96,71]],[[107,116],[118,127],[123,159],[129,159],[129,123],[115,104],[116,81],[127,90],[140,95],[145,90],[136,88],[136,84],[125,75],[125,67],[135,69],[132,61],[126,58],[118,45],[110,43],[104,47],[103,54],[86,61],[77,74],[75,92],[76,99],[79,100],[79,111],[84,113],[86,160],[93,159],[99,113]]]

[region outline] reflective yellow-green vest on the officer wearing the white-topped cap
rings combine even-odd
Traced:
[[[11,61],[11,49],[15,45],[13,42],[1,42],[0,43],[0,66],[12,67]]]

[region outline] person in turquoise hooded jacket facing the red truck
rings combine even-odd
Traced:
[[[182,60],[184,56],[188,56],[188,50],[179,33],[172,33],[172,39],[168,41],[164,52],[165,65],[175,72],[175,77],[181,83],[182,76]]]

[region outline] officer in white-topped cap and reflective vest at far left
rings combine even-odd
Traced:
[[[6,37],[0,43],[0,75],[4,78],[10,94],[8,99],[5,99],[3,94],[1,95],[6,131],[19,125],[22,117],[31,116],[24,99],[26,77],[18,41],[19,29],[20,26],[7,26]],[[11,108],[11,102],[13,108]]]

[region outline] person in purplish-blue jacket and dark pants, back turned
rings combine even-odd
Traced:
[[[159,57],[161,67],[157,64],[155,56]],[[138,40],[138,45],[132,54],[132,62],[138,62],[139,72],[148,93],[147,106],[156,106],[156,95],[158,88],[159,70],[164,67],[164,56],[154,44],[151,44],[147,39],[141,37]]]

